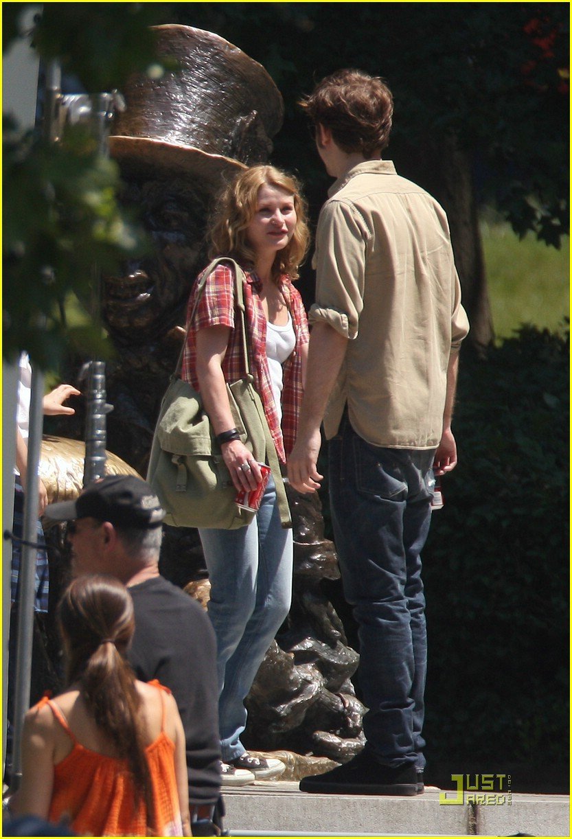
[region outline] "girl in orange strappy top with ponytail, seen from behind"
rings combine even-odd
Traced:
[[[26,714],[10,810],[64,821],[80,836],[190,836],[179,711],[123,658],[135,625],[127,589],[80,577],[62,597],[59,623],[70,686]]]

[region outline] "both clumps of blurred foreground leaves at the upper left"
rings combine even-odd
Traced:
[[[157,8],[45,3],[30,34],[19,30],[27,6],[4,4],[3,50],[32,35],[39,57],[57,59],[78,91],[111,91],[154,60],[148,27]],[[50,144],[41,132],[23,133],[13,119],[4,119],[3,161],[4,357],[26,349],[39,367],[55,369],[70,345],[109,352],[90,310],[94,276],[145,247],[138,224],[117,203],[117,165],[97,153],[84,128]]]

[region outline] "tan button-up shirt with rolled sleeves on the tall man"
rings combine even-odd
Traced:
[[[351,425],[374,446],[434,448],[450,355],[469,331],[445,211],[388,160],[358,164],[329,195],[309,320],[350,340],[325,435],[347,402]]]

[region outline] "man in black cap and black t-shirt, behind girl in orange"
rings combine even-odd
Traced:
[[[68,522],[75,576],[110,574],[128,586],[135,633],[127,658],[138,679],[159,679],[173,691],[185,727],[193,833],[209,835],[221,806],[216,641],[199,604],[159,574],[159,499],[140,478],[112,475],[75,501],[49,504],[45,515]]]

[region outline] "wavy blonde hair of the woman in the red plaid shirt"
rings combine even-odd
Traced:
[[[228,256],[241,263],[254,264],[256,254],[247,240],[246,231],[257,211],[258,190],[264,185],[276,186],[294,196],[297,216],[294,235],[276,254],[272,277],[274,282],[282,274],[287,274],[291,280],[298,279],[299,265],[309,248],[308,210],[299,181],[275,166],[251,166],[222,190],[211,217],[209,257]]]

